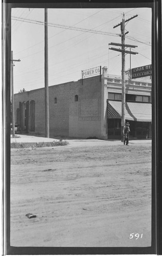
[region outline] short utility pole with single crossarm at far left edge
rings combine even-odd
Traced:
[[[13,59],[13,51],[11,51],[11,101],[12,101],[12,137],[15,137],[15,108],[14,108],[14,87],[13,87],[13,61],[20,61],[20,59]]]

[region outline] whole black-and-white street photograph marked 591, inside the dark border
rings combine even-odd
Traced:
[[[11,246],[151,247],[152,17],[11,8]]]

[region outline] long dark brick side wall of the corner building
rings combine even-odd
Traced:
[[[78,101],[75,101],[78,95]],[[57,103],[55,102],[57,98]],[[35,101],[35,133],[44,136],[44,88],[14,95],[15,119],[19,102]],[[50,137],[101,135],[101,82],[92,77],[49,87]]]

